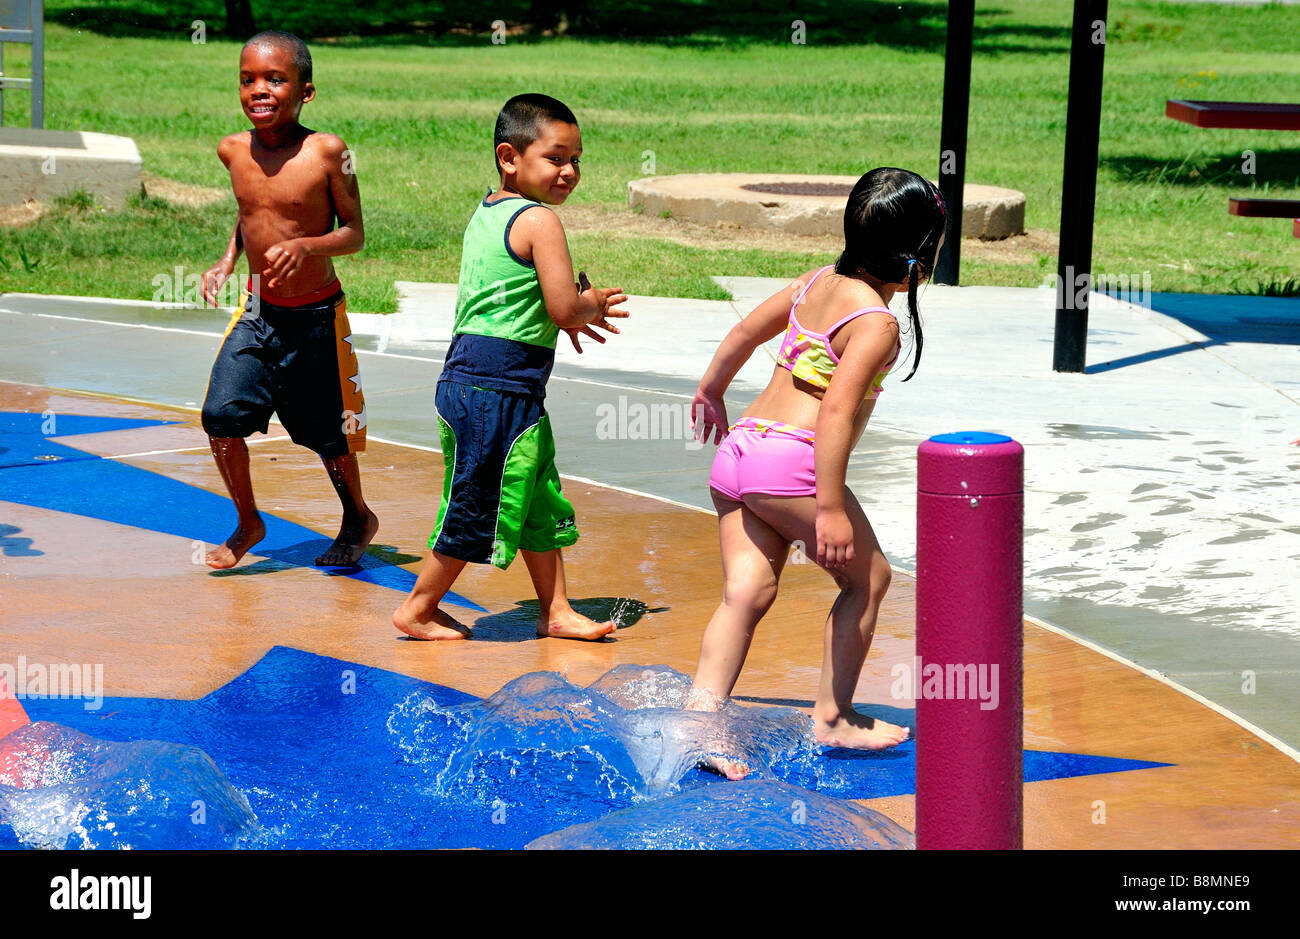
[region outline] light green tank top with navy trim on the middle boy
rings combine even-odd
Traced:
[[[452,334],[491,336],[554,350],[559,326],[546,313],[537,268],[510,247],[510,228],[541,203],[524,198],[480,202],[460,255]]]

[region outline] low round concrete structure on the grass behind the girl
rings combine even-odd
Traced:
[[[844,234],[844,203],[855,176],[689,173],[628,183],[628,205],[699,225],[740,225],[790,234]],[[962,237],[996,241],[1024,231],[1024,194],[966,183]]]

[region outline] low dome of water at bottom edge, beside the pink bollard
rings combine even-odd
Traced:
[[[768,779],[707,786],[543,835],[529,849],[915,848],[872,809]]]

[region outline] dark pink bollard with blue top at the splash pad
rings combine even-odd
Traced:
[[[916,451],[916,847],[1023,847],[1024,449]]]

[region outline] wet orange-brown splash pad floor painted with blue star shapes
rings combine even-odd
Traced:
[[[96,709],[30,693],[8,702],[34,723],[0,740],[0,844],[907,843],[914,745],[861,754],[805,736],[835,594],[812,566],[788,568],[737,687],[728,727],[760,763],[758,778],[736,787],[693,767],[707,734],[684,721],[675,696],[718,596],[716,529],[705,514],[569,481],[584,520],[567,553],[571,592],[584,611],[620,620],[614,641],[536,640],[530,585],[515,566],[467,572],[456,613],[476,622],[477,637],[436,646],[400,639],[387,615],[417,570],[441,489],[437,456],[372,445],[363,468],[378,542],[359,571],[322,572],[300,558],[337,524],[329,484],[312,454],[273,430],[251,447],[254,476],[259,505],[287,528],[266,555],[214,574],[195,563],[195,542],[208,537],[202,525],[220,537],[233,512],[221,514],[194,412],[13,384],[0,385],[0,658],[103,665]],[[46,436],[34,417],[47,415],[66,423]],[[43,484],[20,486],[13,473],[42,473]],[[104,480],[117,481],[109,505],[129,490],[159,493],[147,501],[152,515],[130,503],[105,518],[95,498]],[[216,499],[217,516],[200,518],[194,506],[207,503],[179,492]],[[902,723],[914,702],[896,696],[896,667],[913,661],[911,597],[897,576],[857,694],[861,710]],[[1026,663],[1028,847],[1219,847],[1223,825],[1236,844],[1294,844],[1300,825],[1282,799],[1296,783],[1291,761],[1032,626]],[[1118,702],[1131,719],[1113,719]],[[64,761],[57,771],[51,753]],[[170,788],[155,784],[140,801],[140,782],[164,776]],[[1226,799],[1200,805],[1206,787]],[[202,844],[188,817],[203,799],[195,793],[213,806]],[[1093,825],[1080,799],[1122,806],[1124,823]],[[117,821],[142,812],[150,823]],[[706,823],[681,834],[682,815],[707,822],[722,812],[733,818],[724,831]]]

